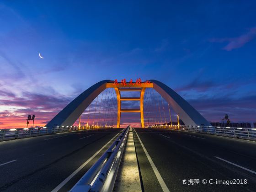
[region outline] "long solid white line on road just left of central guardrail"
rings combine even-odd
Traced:
[[[88,160],[86,160],[80,167],[78,167],[70,176],[68,176],[64,181],[62,181],[57,187],[55,187],[52,192],[58,192],[61,187],[63,187],[70,179],[72,179],[81,169],[84,168],[98,153],[100,153],[119,133],[117,133],[112,139],[110,139],[107,144],[101,147],[94,155],[92,155]]]

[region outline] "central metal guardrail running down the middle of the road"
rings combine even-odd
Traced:
[[[123,130],[69,192],[112,192],[129,129]]]

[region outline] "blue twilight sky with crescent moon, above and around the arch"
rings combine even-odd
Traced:
[[[0,128],[24,127],[27,114],[46,124],[96,82],[124,78],[165,83],[208,121],[256,122],[255,10],[253,0],[2,0]]]

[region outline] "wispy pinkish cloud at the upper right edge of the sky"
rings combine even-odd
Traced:
[[[245,45],[245,43],[250,42],[256,37],[256,27],[251,28],[247,33],[234,38],[213,38],[210,42],[223,43],[228,42],[228,44],[222,48],[226,51],[231,51],[232,49],[240,48]]]

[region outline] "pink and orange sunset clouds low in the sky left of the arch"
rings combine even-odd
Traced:
[[[11,91],[2,91],[0,108],[6,110],[0,112],[0,128],[24,127],[28,114],[36,115],[35,125],[44,126],[69,101],[69,98],[61,95],[46,96],[23,92],[22,97],[18,97]]]

